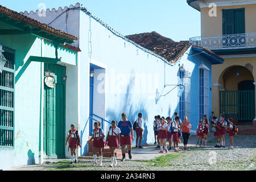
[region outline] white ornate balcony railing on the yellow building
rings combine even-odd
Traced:
[[[193,46],[205,47],[210,50],[255,48],[256,33],[197,36],[190,38],[189,42]]]

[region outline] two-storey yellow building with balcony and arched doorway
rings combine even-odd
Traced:
[[[256,122],[256,1],[187,0],[201,13],[201,36],[193,46],[224,58],[212,65],[212,110],[239,123]]]

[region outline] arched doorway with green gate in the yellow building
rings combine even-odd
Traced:
[[[255,117],[254,77],[249,69],[232,66],[221,77],[224,89],[220,91],[220,112],[240,123],[251,122]]]

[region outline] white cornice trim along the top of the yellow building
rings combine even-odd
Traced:
[[[209,7],[210,3],[215,3],[216,6],[238,6],[238,5],[251,5],[255,4],[256,0],[222,0],[222,1],[210,1],[199,2],[200,9],[203,7]]]

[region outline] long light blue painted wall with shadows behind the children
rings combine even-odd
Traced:
[[[91,30],[91,33],[89,32]],[[90,35],[91,36],[88,36]],[[191,121],[194,129],[197,126],[198,118],[198,82],[199,65],[203,61],[211,69],[210,61],[203,56],[191,56],[195,53],[189,48],[176,64],[170,65],[154,55],[142,51],[132,43],[115,36],[104,26],[93,18],[89,18],[84,12],[80,13],[80,48],[81,52],[81,122],[82,140],[88,139],[88,117],[89,117],[89,60],[98,61],[106,65],[106,120],[117,119],[121,121],[121,113],[125,112],[130,121],[137,119],[137,114],[142,113],[144,122],[143,144],[154,142],[153,121],[155,115],[164,117],[174,116],[178,111],[178,89],[170,94],[161,97],[155,103],[156,89],[164,95],[178,84],[179,66],[185,65],[192,72],[191,77]],[[91,55],[88,50],[91,51]],[[189,56],[189,57],[188,57]],[[133,76],[131,74],[145,74],[146,82],[153,82],[154,89],[145,93],[134,92]],[[164,74],[165,73],[165,74]],[[156,74],[156,75],[155,75]],[[211,71],[209,76],[211,75]],[[151,76],[151,77],[150,77]],[[122,77],[125,77],[124,81]],[[135,78],[138,77],[135,76]],[[156,82],[154,82],[156,79]],[[122,84],[119,84],[121,82]],[[118,84],[120,88],[118,88]],[[150,84],[146,84],[148,86]],[[148,86],[150,87],[150,86]],[[211,78],[209,80],[211,87]],[[211,94],[210,94],[211,96]],[[209,103],[211,106],[211,102]],[[94,106],[97,107],[97,106]],[[209,109],[210,113],[211,108]],[[108,129],[106,127],[105,129]],[[133,141],[135,144],[135,141]],[[85,155],[87,146],[82,142],[81,154]]]

